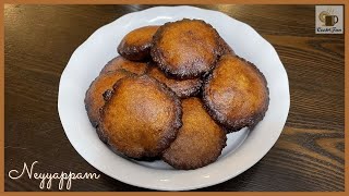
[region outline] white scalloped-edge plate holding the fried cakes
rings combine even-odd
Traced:
[[[219,159],[201,169],[173,170],[163,161],[142,162],[113,154],[91,125],[84,106],[85,91],[101,68],[118,56],[117,46],[130,30],[183,17],[212,24],[237,54],[253,62],[268,82],[270,103],[253,132],[243,128],[228,135]],[[58,111],[65,134],[76,151],[105,174],[135,186],[184,191],[221,183],[255,164],[273,147],[285,125],[290,105],[287,73],[273,46],[251,26],[216,11],[193,7],[157,7],[127,14],[97,29],[72,54],[62,73]]]

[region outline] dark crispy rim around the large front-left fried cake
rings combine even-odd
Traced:
[[[152,82],[155,82],[156,87],[160,91],[164,91],[165,94],[167,94],[170,97],[170,99],[172,99],[172,102],[174,103],[174,107],[176,107],[176,111],[174,111],[174,120],[172,120],[172,124],[169,125],[167,127],[167,130],[165,131],[167,133],[167,135],[165,135],[161,138],[161,140],[158,142],[157,151],[151,151],[151,152],[145,152],[145,154],[133,156],[131,150],[130,150],[131,152],[130,151],[124,151],[124,152],[118,151],[117,146],[111,144],[109,142],[108,135],[105,134],[104,127],[101,125],[101,121],[103,121],[103,118],[105,117],[106,107],[110,103],[111,98],[117,95],[116,91],[119,88],[120,84],[123,81],[129,79],[129,78],[137,79],[137,78],[143,78],[143,77],[145,77],[146,79],[149,79]],[[159,83],[155,78],[149,77],[148,75],[145,75],[145,74],[140,75],[140,76],[131,75],[131,76],[127,76],[127,77],[123,77],[123,78],[119,79],[113,85],[113,89],[112,89],[112,91],[110,91],[110,94],[111,94],[111,96],[110,96],[109,100],[107,100],[105,106],[100,109],[100,115],[99,115],[99,124],[100,124],[100,126],[97,127],[99,130],[99,132],[103,133],[103,135],[106,136],[106,144],[108,146],[110,146],[112,150],[121,152],[121,154],[123,154],[123,155],[125,155],[128,157],[135,158],[135,159],[144,159],[144,158],[148,158],[148,157],[160,156],[161,152],[166,148],[168,148],[170,146],[170,144],[176,139],[177,133],[178,133],[179,128],[182,126],[182,105],[181,105],[181,99],[179,97],[177,97],[177,95],[170,88],[168,88],[165,84]],[[130,155],[132,155],[132,156],[130,156]]]

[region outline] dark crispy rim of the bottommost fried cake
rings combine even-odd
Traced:
[[[203,109],[205,110],[205,105],[203,103],[202,100],[200,100],[202,102],[202,107]],[[207,110],[206,110],[207,111]],[[207,112],[208,113],[208,112]],[[210,117],[210,115],[209,115]],[[212,118],[212,117],[210,117]],[[216,122],[216,121],[215,121]],[[221,151],[222,149],[227,146],[227,135],[226,135],[226,130],[225,127],[222,127],[219,123],[217,124],[219,127],[220,127],[220,131],[221,131],[221,139],[220,139],[220,143],[218,144],[218,148],[217,148],[217,154],[213,157],[210,157],[210,159],[206,159],[205,161],[202,161],[201,164],[197,164],[197,166],[189,166],[189,164],[180,164],[176,161],[176,159],[171,159],[170,157],[167,157],[165,156],[166,155],[166,149],[164,152],[163,152],[163,156],[161,156],[161,159],[167,162],[168,164],[170,164],[171,167],[173,167],[174,169],[178,169],[178,170],[194,170],[194,169],[198,169],[198,168],[203,168],[203,167],[206,167],[213,162],[215,162],[218,157],[221,155]],[[188,158],[190,159],[190,157]]]

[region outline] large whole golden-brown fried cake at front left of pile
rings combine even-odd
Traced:
[[[176,138],[181,117],[181,101],[166,85],[147,75],[130,76],[113,86],[98,128],[125,156],[157,157]]]

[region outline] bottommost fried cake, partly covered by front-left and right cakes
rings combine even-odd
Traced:
[[[183,126],[163,159],[176,169],[205,167],[220,156],[226,146],[226,132],[209,117],[196,97],[182,100]]]

